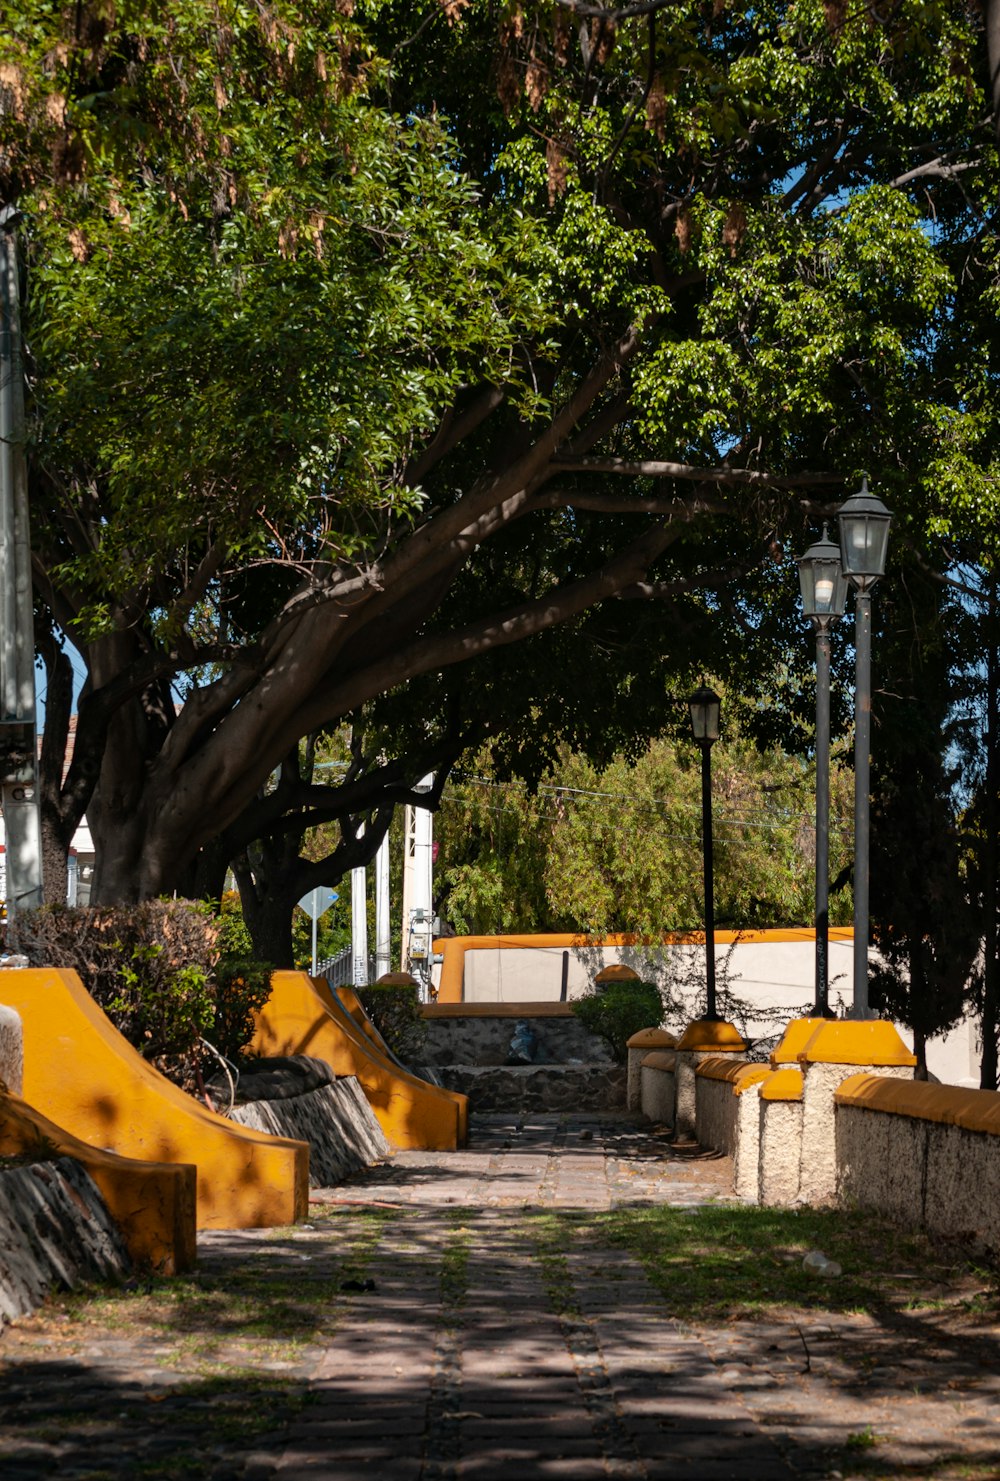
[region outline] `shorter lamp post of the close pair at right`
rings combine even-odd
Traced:
[[[799,557],[801,613],[816,632],[816,1017],[830,1017],[830,629],[843,618],[840,546],[822,536]]]

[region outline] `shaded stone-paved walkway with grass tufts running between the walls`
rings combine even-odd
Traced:
[[[856,1456],[859,1475],[1000,1477],[988,1336],[689,1324],[627,1253],[539,1243],[529,1217],[698,1210],[730,1174],[625,1118],[479,1121],[465,1152],[320,1192],[307,1226],[204,1235],[159,1324],[139,1290],[102,1324],[9,1328],[0,1475],[819,1481]]]

